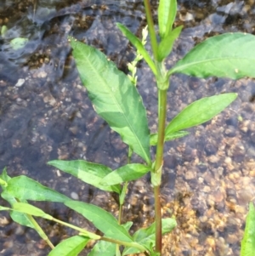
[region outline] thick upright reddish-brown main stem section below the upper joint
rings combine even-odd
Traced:
[[[156,184],[154,184],[155,197],[155,221],[156,221],[156,253],[161,255],[162,247],[162,229],[161,229],[161,169],[163,166],[165,124],[167,115],[167,90],[158,90],[158,140],[156,145],[156,163],[154,174],[156,175]],[[152,182],[153,184],[153,182]]]

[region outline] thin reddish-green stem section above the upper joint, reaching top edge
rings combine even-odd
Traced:
[[[149,28],[151,48],[152,48],[154,59],[157,60],[156,32],[154,29],[154,23],[153,23],[152,14],[151,14],[150,0],[144,0],[144,8],[145,8],[146,19],[147,19],[148,28]]]

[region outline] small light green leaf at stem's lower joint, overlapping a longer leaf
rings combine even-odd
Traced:
[[[144,166],[140,163],[130,163],[122,168],[118,168],[115,171],[111,172],[102,179],[101,183],[103,185],[115,185],[121,184],[125,181],[131,181],[139,179],[150,171],[151,168]]]

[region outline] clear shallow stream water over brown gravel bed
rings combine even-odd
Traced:
[[[116,210],[111,195],[105,196],[67,174],[60,174],[46,162],[80,158],[118,168],[127,161],[126,146],[94,114],[77,78],[66,36],[100,48],[122,71],[127,71],[133,48],[115,24],[122,22],[139,33],[144,26],[142,3],[0,3],[0,26],[8,28],[0,37],[0,169],[7,167],[10,176],[26,174],[67,196],[73,192],[84,202]],[[156,1],[152,6],[156,8]],[[226,31],[253,33],[254,3],[179,1],[175,25],[184,25],[184,31],[167,60],[169,66],[206,37]],[[28,38],[25,48],[11,48],[14,37]],[[139,91],[153,129],[157,109],[156,96],[152,94],[156,92],[155,83],[144,63],[138,72]],[[167,119],[171,120],[193,100],[230,91],[239,93],[239,98],[222,115],[192,129],[189,137],[167,143],[163,205],[167,217],[167,208],[177,216],[178,229],[167,236],[165,244],[169,247],[164,255],[239,255],[247,202],[254,196],[253,80],[174,76],[168,93]],[[131,187],[128,191],[125,213],[137,225],[153,218],[152,193],[145,183],[149,179],[134,183],[133,191]],[[139,205],[136,200],[144,204]],[[77,225],[82,221],[59,204],[37,205],[59,219]],[[3,255],[48,253],[48,247],[33,230],[17,229],[8,213],[1,213],[1,219],[7,221],[2,221],[0,235]],[[42,226],[55,243],[71,234],[71,230],[48,222],[42,221]]]

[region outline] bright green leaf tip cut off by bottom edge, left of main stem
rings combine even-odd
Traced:
[[[88,237],[72,236],[60,242],[48,256],[77,256],[89,241]]]

